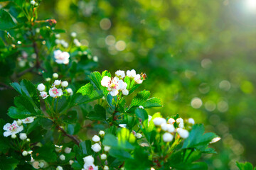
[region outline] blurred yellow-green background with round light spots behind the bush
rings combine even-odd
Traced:
[[[255,0],[43,0],[38,11],[78,33],[97,70],[145,72],[141,89],[164,102],[149,113],[192,117],[220,135],[209,169],[256,164]],[[1,113],[14,96],[1,91]]]

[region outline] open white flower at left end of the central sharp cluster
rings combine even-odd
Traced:
[[[122,82],[117,77],[111,79],[110,77],[103,77],[101,84],[102,86],[107,87],[107,90],[110,91],[111,96],[117,96],[119,89],[122,89]]]

